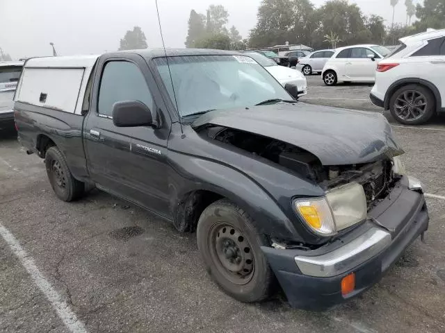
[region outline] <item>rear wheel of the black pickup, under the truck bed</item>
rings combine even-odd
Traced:
[[[56,146],[49,147],[44,157],[44,164],[51,187],[58,198],[72,201],[80,198],[85,191],[85,184],[74,179],[63,153]]]

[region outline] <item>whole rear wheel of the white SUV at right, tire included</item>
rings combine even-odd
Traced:
[[[404,103],[405,99],[411,101]],[[404,108],[403,105],[405,105]],[[436,100],[430,89],[422,85],[405,85],[392,94],[389,100],[389,110],[392,117],[399,123],[420,125],[428,122],[435,114]],[[410,118],[410,116],[412,117]]]

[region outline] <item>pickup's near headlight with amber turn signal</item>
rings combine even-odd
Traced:
[[[328,191],[324,198],[298,199],[296,211],[318,234],[330,236],[366,219],[366,196],[362,185],[350,182]]]

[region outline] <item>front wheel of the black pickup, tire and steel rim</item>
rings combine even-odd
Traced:
[[[224,252],[229,241],[236,244],[236,249],[232,246],[229,250],[242,257],[239,262],[239,257],[228,259]],[[266,244],[250,216],[229,200],[209,205],[197,223],[197,246],[207,271],[225,293],[241,302],[259,302],[268,298],[272,291],[273,271],[260,248]],[[225,258],[221,260],[221,256]],[[234,261],[230,262],[231,259]],[[236,266],[235,270],[238,266],[243,269],[234,273],[228,265]],[[245,273],[248,271],[250,273]]]

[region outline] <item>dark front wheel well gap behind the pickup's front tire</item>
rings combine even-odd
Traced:
[[[188,192],[179,202],[175,227],[179,232],[194,232],[198,219],[204,210],[223,196],[212,191],[197,190]]]

